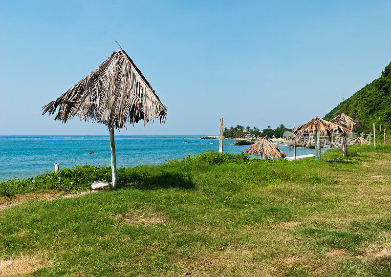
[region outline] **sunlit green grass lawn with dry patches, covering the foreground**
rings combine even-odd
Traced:
[[[25,198],[0,210],[0,276],[391,276],[391,145],[348,151],[321,162],[207,152],[51,201],[39,195],[62,182],[3,182],[0,201]],[[65,191],[88,187],[72,174]]]

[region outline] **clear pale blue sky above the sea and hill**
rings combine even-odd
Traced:
[[[0,135],[97,135],[41,107],[116,51],[167,106],[124,135],[217,134],[323,117],[391,62],[390,1],[2,1]]]

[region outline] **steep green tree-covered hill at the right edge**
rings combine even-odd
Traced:
[[[379,127],[379,117],[384,128],[391,128],[391,63],[384,68],[381,76],[341,102],[324,117],[331,120],[340,113],[345,113],[361,123],[357,131],[370,131],[373,122]]]

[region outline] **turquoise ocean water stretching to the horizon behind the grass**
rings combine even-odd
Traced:
[[[117,166],[161,164],[206,150],[218,150],[218,140],[202,136],[115,136]],[[183,143],[183,141],[188,143]],[[234,146],[224,140],[224,152],[239,153],[248,146]],[[292,150],[280,146],[288,156]],[[324,152],[326,149],[322,149]],[[88,154],[94,151],[96,154]],[[314,149],[297,149],[297,155],[313,154]],[[109,165],[109,136],[0,136],[0,180],[33,176],[75,164]]]

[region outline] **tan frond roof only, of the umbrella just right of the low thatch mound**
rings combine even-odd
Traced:
[[[342,127],[338,124],[331,123],[319,117],[314,117],[310,121],[295,128],[292,132],[296,135],[297,140],[300,140],[304,134],[313,134],[315,131],[318,133],[326,134],[329,137],[332,133],[348,133],[348,128]]]

